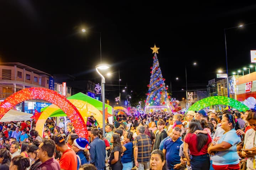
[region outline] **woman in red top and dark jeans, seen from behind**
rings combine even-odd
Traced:
[[[209,134],[195,133],[196,130],[203,130],[199,120],[192,120],[189,123],[188,132],[184,139],[183,152],[187,158],[187,165],[193,170],[209,170],[210,157],[208,154],[208,146],[211,144],[211,136]],[[188,149],[191,153],[189,158]]]

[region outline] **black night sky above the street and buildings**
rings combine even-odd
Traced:
[[[106,84],[118,85],[120,70],[121,88],[127,83],[140,91],[150,81],[150,47],[156,44],[165,83],[172,83],[179,100],[186,96],[185,66],[188,90],[206,89],[217,69],[226,72],[224,28],[248,24],[227,29],[226,38],[229,75],[249,66],[250,50],[256,49],[256,3],[166,3],[1,0],[0,62],[99,82],[101,33],[102,61],[114,72]]]

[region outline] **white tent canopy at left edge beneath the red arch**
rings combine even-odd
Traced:
[[[31,120],[33,114],[15,111],[13,109],[9,110],[5,115],[0,119],[0,122],[6,121],[21,121],[21,120]]]

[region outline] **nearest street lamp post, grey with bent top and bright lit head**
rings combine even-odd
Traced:
[[[102,83],[102,87],[101,87],[101,93],[102,93],[102,120],[103,120],[103,125],[102,125],[102,135],[105,137],[105,77],[99,72],[98,69],[100,70],[105,70],[108,69],[110,67],[110,65],[108,64],[99,64],[97,66],[95,66],[97,73],[100,75],[101,77],[101,83]]]

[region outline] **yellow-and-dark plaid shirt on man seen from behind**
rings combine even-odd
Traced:
[[[145,163],[150,161],[152,142],[148,135],[138,135],[134,138],[133,147],[138,148],[137,161]]]

